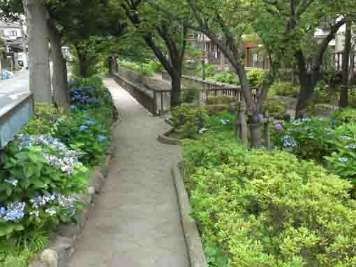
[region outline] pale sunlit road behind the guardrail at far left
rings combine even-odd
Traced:
[[[29,72],[21,70],[10,79],[0,80],[0,110],[16,102],[17,98],[29,93]]]

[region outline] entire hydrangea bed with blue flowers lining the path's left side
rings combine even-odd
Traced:
[[[71,107],[35,105],[0,155],[0,266],[25,267],[60,222],[75,222],[89,170],[110,142],[112,99],[99,77],[71,80]]]

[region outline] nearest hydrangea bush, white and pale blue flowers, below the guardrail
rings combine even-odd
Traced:
[[[88,180],[88,169],[50,135],[19,136],[1,155],[0,237],[68,222]]]

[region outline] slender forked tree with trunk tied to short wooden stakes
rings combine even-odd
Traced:
[[[269,86],[274,82],[278,60],[272,61],[268,79],[265,80],[261,89],[258,90],[257,100],[253,99],[253,91],[247,79],[244,59],[242,58],[241,43],[246,28],[258,18],[258,6],[254,1],[219,1],[213,0],[195,1],[185,0],[191,8],[195,18],[195,29],[204,33],[218,46],[223,55],[230,61],[235,73],[239,77],[242,93],[249,114],[251,131],[251,146],[261,146],[260,113],[262,103],[267,98]],[[265,43],[265,49],[269,52],[270,59],[274,50],[269,43]],[[275,59],[277,55],[275,56]]]

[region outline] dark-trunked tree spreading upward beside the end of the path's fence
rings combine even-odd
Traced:
[[[179,105],[186,52],[186,24],[142,0],[122,0],[121,7],[172,79],[171,107]]]

